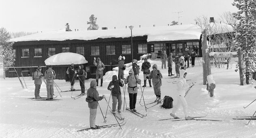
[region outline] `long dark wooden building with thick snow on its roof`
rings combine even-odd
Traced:
[[[132,61],[131,53],[133,53],[133,59],[139,59],[146,53],[156,53],[160,58],[163,50],[166,50],[167,54],[183,55],[185,48],[194,47],[199,57],[202,55],[199,50],[201,49],[201,28],[193,24],[133,28],[132,45],[129,28],[40,32],[13,38],[10,41],[14,42],[15,68],[18,72],[23,72],[24,76],[30,76],[37,66],[43,66],[44,72],[47,69],[45,59],[64,52],[78,53],[85,57],[88,61],[84,64],[88,78],[95,78],[94,57],[100,57],[106,65],[104,72],[107,72],[117,66],[119,55],[126,57],[126,63]],[[65,79],[68,66],[53,65],[53,70],[57,74],[56,79]],[[13,68],[6,72],[6,77],[15,75]]]

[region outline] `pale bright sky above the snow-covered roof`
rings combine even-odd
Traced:
[[[224,12],[236,12],[233,0],[0,0],[0,27],[9,32],[60,30],[65,24],[87,30],[94,14],[99,27],[108,29],[163,26],[178,21],[195,23],[201,15],[218,20]],[[178,13],[181,12],[178,18]]]

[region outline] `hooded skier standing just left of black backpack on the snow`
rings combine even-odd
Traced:
[[[161,103],[161,86],[162,86],[162,74],[160,70],[157,69],[157,65],[153,65],[153,70],[150,72],[149,76],[147,76],[147,79],[152,79],[154,93],[156,95],[156,100],[158,104]]]

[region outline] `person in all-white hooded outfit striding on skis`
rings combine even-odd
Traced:
[[[194,119],[193,117],[190,117],[188,115],[188,104],[186,102],[186,99],[184,98],[185,93],[186,93],[185,89],[189,88],[189,85],[186,81],[186,75],[187,74],[188,73],[186,72],[186,70],[180,70],[181,77],[179,78],[179,81],[177,82],[177,91],[178,91],[178,93],[176,93],[176,96],[175,96],[176,100],[174,100],[173,110],[170,114],[175,119],[178,119],[178,117],[175,115],[175,112],[178,110],[180,104],[183,106],[185,119],[186,120]]]

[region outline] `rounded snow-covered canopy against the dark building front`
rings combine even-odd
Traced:
[[[58,53],[45,59],[45,65],[70,65],[88,63],[83,55],[77,53]]]

